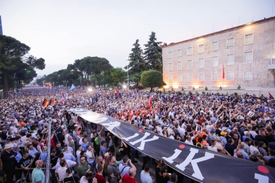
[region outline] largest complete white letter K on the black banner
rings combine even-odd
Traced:
[[[201,171],[199,170],[197,163],[205,160],[209,160],[210,158],[214,158],[214,154],[206,152],[204,157],[192,160],[192,158],[194,158],[195,154],[197,154],[198,152],[199,152],[199,149],[190,148],[190,154],[187,156],[186,160],[184,160],[184,162],[181,162],[181,164],[177,164],[176,167],[178,169],[181,169],[181,171],[184,171],[185,167],[191,162],[192,169],[195,172],[192,174],[192,176],[199,180],[203,180],[203,176],[201,175]]]

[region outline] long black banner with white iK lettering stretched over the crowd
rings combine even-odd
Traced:
[[[118,138],[199,182],[275,182],[275,169],[226,156],[142,130],[130,123],[83,109],[71,109],[83,119],[99,123]]]

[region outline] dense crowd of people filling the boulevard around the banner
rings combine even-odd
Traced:
[[[150,157],[69,108],[85,108],[175,141],[275,167],[272,97],[66,88],[24,88],[9,96],[0,104],[1,182],[20,180],[22,174],[26,182],[45,182],[47,146],[52,181],[128,183],[136,176],[142,183],[178,181],[179,173],[162,160],[154,161],[151,176]],[[54,102],[43,106],[44,99]],[[137,172],[135,158],[141,157],[142,171]]]

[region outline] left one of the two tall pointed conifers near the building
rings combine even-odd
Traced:
[[[135,82],[140,82],[140,77],[142,75],[142,71],[146,71],[146,62],[144,61],[142,54],[143,51],[140,48],[140,44],[138,43],[139,40],[135,40],[135,43],[133,44],[133,48],[131,49],[132,53],[129,55],[129,80],[134,80]],[[124,69],[127,69],[127,66],[124,67]]]

